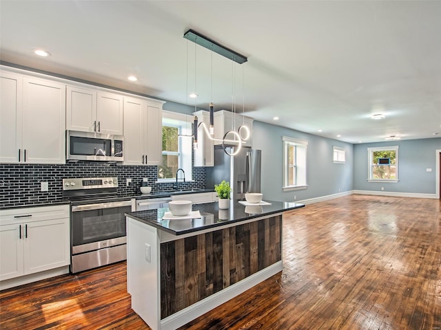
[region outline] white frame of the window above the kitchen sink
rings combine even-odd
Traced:
[[[178,135],[191,135],[192,133],[192,122],[187,121],[187,117],[183,113],[175,113],[172,111],[163,110],[162,126],[170,126],[178,128]],[[184,140],[185,139],[185,140]],[[185,150],[184,150],[185,149]],[[163,151],[162,141],[161,141],[161,158],[162,155],[178,155],[178,168],[183,168],[185,171],[185,182],[193,181],[192,171],[193,171],[193,153],[192,153],[192,137],[183,136],[178,137],[178,151]],[[176,182],[176,177],[172,178],[160,178],[159,166],[158,173],[156,174],[156,181],[158,183],[165,182]],[[176,175],[176,174],[175,174]],[[181,176],[179,176],[181,177]]]

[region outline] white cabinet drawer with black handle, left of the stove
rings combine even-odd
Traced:
[[[0,225],[69,218],[69,208],[69,205],[66,204],[59,206],[39,206],[32,208],[0,210]]]

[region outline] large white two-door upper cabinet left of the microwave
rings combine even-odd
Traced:
[[[65,85],[0,72],[0,162],[65,162]]]

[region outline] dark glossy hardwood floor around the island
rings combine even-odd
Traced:
[[[368,195],[288,212],[283,272],[181,329],[441,330],[440,214]],[[3,290],[0,329],[150,329],[125,281],[118,263]]]

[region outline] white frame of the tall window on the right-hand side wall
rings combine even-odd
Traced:
[[[282,186],[282,189],[283,189],[283,191],[306,189],[308,186],[307,185],[308,141],[295,139],[294,137],[288,137],[288,136],[283,136],[282,141],[283,141],[283,186]],[[300,166],[299,165],[300,161],[297,158],[298,147],[304,148],[304,150],[305,150],[305,152],[304,152],[305,157],[304,157],[304,159],[301,160],[302,166],[304,166],[305,177],[302,178],[302,182],[300,184],[288,185],[287,180],[289,177],[288,170],[289,170],[290,164],[288,164],[289,157],[288,157],[287,151],[288,151],[289,146],[293,146],[293,145],[296,146],[296,160],[295,160],[294,166]]]

